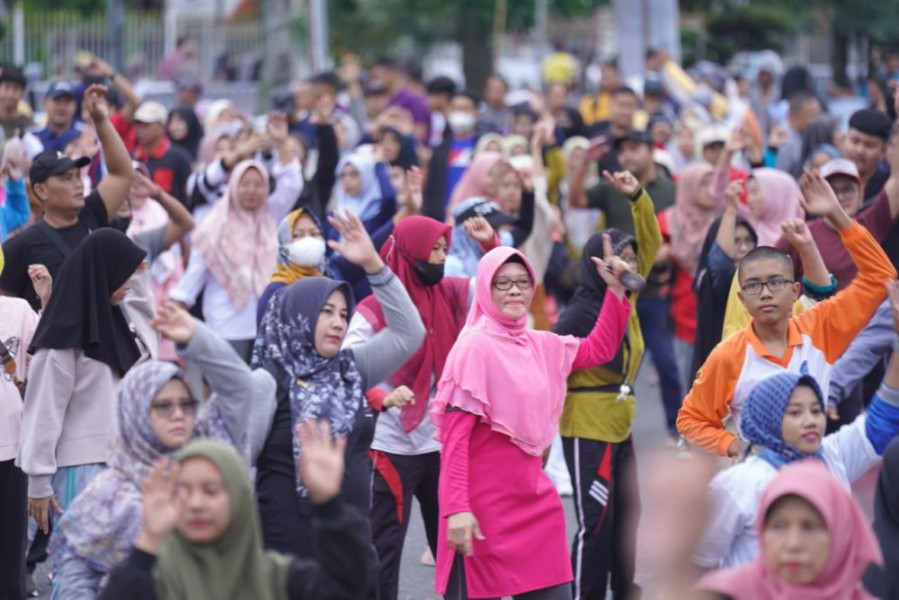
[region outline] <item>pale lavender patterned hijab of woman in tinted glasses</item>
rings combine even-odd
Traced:
[[[50,543],[54,556],[74,554],[101,573],[108,573],[128,557],[140,531],[141,486],[153,463],[172,452],[153,431],[150,407],[163,386],[183,377],[174,364],[155,360],[141,363],[125,375],[116,403],[118,428],[109,468],[66,508],[58,534]],[[204,409],[209,418],[197,415],[194,435],[229,440],[216,400],[207,401]]]

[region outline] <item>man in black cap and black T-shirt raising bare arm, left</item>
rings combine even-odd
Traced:
[[[106,88],[90,86],[84,105],[106,159],[107,174],[86,198],[80,169],[89,158],[72,160],[62,152],[42,152],[29,171],[31,189],[43,208],[38,223],[3,245],[6,267],[0,274],[0,294],[17,296],[40,309],[31,279],[30,265],[44,265],[52,277],[60,265],[94,229],[106,227],[128,196],[134,169],[125,144],[109,122]]]

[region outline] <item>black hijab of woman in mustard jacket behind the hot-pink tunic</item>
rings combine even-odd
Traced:
[[[620,229],[607,229],[599,233],[594,233],[584,244],[584,251],[578,261],[574,274],[575,290],[568,306],[559,315],[553,332],[559,335],[573,335],[585,338],[590,335],[596,319],[599,318],[599,311],[602,308],[602,301],[606,295],[606,282],[599,276],[596,271],[596,265],[591,260],[594,256],[603,258],[602,234],[607,233],[612,240],[612,251],[617,255],[625,247],[631,245],[634,252],[637,251],[637,240],[628,233]],[[618,349],[618,354],[612,361],[605,366],[619,370],[623,368],[623,349],[627,344],[627,336],[625,343]]]

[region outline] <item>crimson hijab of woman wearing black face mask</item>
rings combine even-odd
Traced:
[[[431,250],[441,237],[450,242],[449,225],[429,217],[403,219],[381,248],[381,258],[400,281],[418,309],[428,335],[418,351],[392,377],[394,385],[405,385],[415,394],[415,404],[404,406],[400,423],[406,433],[424,419],[431,395],[432,380],[440,380],[447,356],[462,330],[464,308],[454,301],[450,282],[442,279],[436,285],[425,285],[416,272],[416,261],[427,262]],[[464,304],[462,304],[464,307]],[[384,312],[377,298],[369,296],[359,304],[360,311],[371,311],[377,322],[384,322]]]

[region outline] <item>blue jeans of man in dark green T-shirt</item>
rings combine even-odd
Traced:
[[[677,411],[680,410],[684,396],[681,393],[677,362],[674,359],[674,334],[668,327],[668,310],[667,300],[658,298],[637,300],[637,316],[640,317],[643,341],[659,373],[659,389],[665,407],[666,425],[668,431],[675,433]]]

